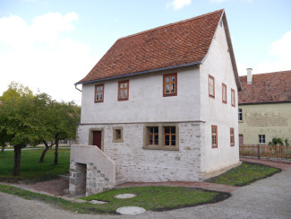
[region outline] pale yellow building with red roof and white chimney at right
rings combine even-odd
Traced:
[[[291,71],[240,76],[240,145],[267,145],[273,137],[291,141]]]

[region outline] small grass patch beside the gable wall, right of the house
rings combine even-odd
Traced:
[[[249,185],[254,181],[270,177],[280,171],[280,169],[275,167],[252,162],[243,162],[242,165],[207,181],[241,187]]]

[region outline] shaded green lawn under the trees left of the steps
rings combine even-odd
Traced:
[[[54,165],[55,151],[48,150],[43,163],[39,158],[43,150],[22,150],[20,176],[13,177],[14,152],[0,153],[0,181],[34,182],[51,180],[70,170],[70,148],[58,150],[58,164]]]

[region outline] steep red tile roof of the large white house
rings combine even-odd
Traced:
[[[223,15],[224,10],[219,10],[117,39],[90,73],[78,83],[90,83],[165,68],[199,65],[208,53]],[[240,90],[225,15],[223,18],[235,80]]]

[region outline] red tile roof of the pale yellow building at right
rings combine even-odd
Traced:
[[[291,71],[240,76],[243,91],[238,92],[238,104],[291,101]]]

